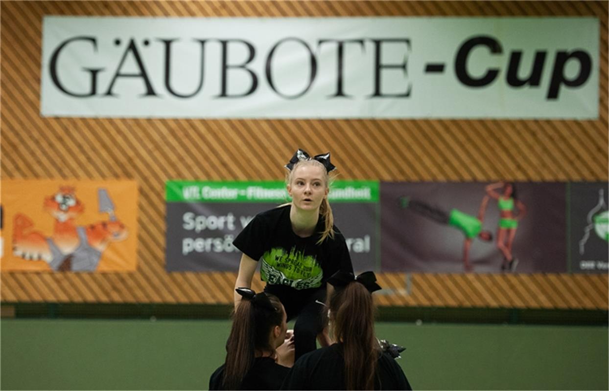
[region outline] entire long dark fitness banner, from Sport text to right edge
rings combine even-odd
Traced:
[[[337,181],[329,198],[356,271],[607,272],[607,182],[490,196],[504,185]],[[236,271],[234,237],[287,201],[281,181],[167,182],[167,270]]]

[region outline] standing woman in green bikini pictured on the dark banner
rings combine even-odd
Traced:
[[[498,190],[501,189],[501,192]],[[512,245],[518,228],[518,220],[526,215],[527,209],[516,196],[513,182],[496,182],[486,187],[487,195],[497,200],[499,208],[499,229],[497,230],[497,247],[503,253],[502,270],[515,271],[518,259],[513,257]],[[518,213],[514,213],[514,209]]]

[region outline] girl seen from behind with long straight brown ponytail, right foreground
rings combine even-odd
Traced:
[[[383,353],[375,337],[371,292],[381,289],[373,272],[357,277],[338,272],[328,280],[330,330],[336,344],[302,356],[284,390],[411,390],[400,365]]]

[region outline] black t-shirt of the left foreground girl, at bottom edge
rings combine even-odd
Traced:
[[[241,382],[240,390],[278,390],[283,379],[290,371],[288,367],[279,365],[270,357],[258,357],[254,360],[252,368]],[[216,369],[209,378],[210,390],[224,390],[222,387],[224,364]]]

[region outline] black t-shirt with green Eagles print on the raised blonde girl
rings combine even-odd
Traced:
[[[259,213],[234,239],[233,245],[253,260],[262,260],[260,274],[267,291],[284,296],[295,291],[310,294],[325,288],[326,280],[339,270],[353,272],[345,238],[334,226],[334,239],[316,244],[324,229],[320,216],[315,234],[294,234],[290,206]]]

